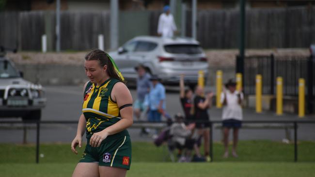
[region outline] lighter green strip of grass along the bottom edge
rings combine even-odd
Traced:
[[[70,177],[75,163],[6,163],[1,177]],[[132,162],[127,177],[315,177],[315,163]]]

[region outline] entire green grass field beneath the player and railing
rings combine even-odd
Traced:
[[[222,159],[221,143],[214,144],[212,163],[172,163],[166,148],[133,142],[127,177],[315,177],[315,142],[299,142],[299,162],[293,162],[293,145],[273,141],[240,141],[239,158]],[[42,144],[35,164],[34,145],[0,144],[1,177],[68,177],[80,154],[70,144]]]

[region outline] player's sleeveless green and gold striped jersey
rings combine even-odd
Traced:
[[[110,78],[100,86],[88,82],[83,97],[82,112],[86,119],[86,138],[90,139],[93,133],[100,132],[118,122],[120,118],[119,107],[110,96],[114,85],[120,82]],[[106,140],[129,136],[127,130],[110,135]]]

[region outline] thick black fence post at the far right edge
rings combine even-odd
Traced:
[[[313,56],[311,55],[308,59],[307,63],[307,109],[308,113],[313,113],[313,105],[314,105],[314,93],[313,93],[313,87],[314,87],[314,63],[313,63]]]

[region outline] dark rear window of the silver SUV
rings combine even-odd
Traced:
[[[164,45],[164,49],[172,54],[200,54],[203,52],[197,44],[170,44]]]

